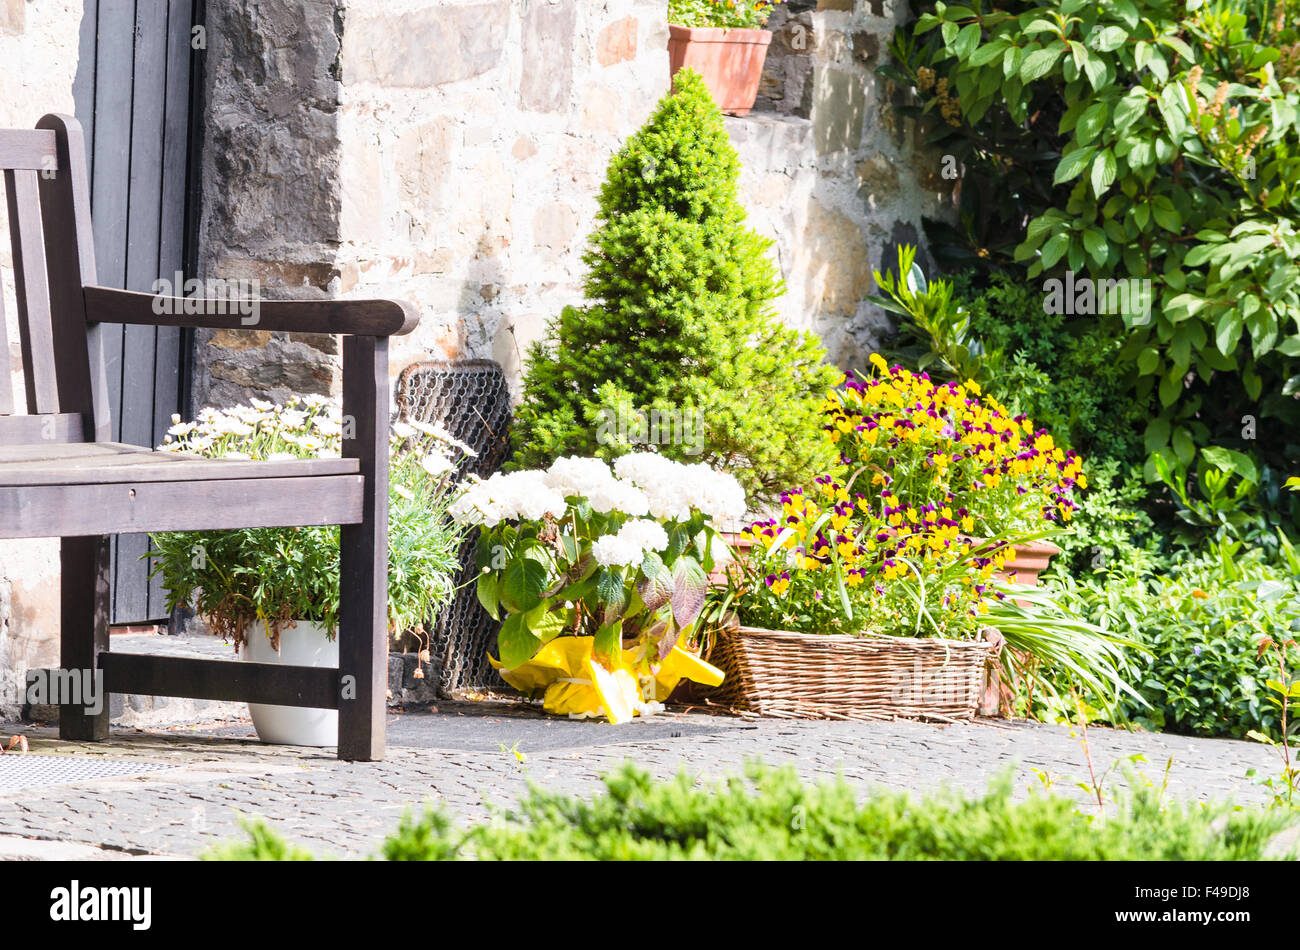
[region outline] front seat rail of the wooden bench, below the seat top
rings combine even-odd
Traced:
[[[364,481],[342,474],[0,486],[0,538],[360,524]]]

